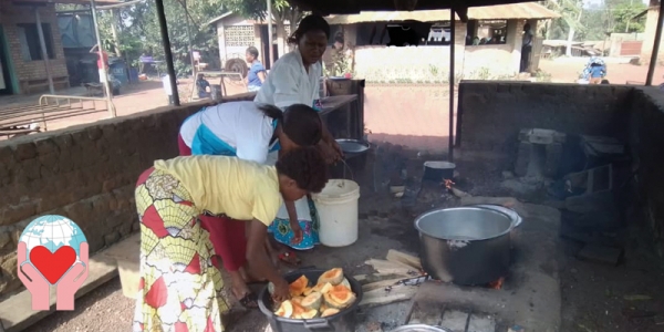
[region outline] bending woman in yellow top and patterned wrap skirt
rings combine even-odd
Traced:
[[[155,162],[136,184],[141,291],[133,330],[224,331],[224,282],[212,266],[210,236],[198,220],[204,212],[246,220],[247,261],[274,283],[276,300],[289,299],[288,282],[264,251],[267,228],[281,197],[294,200],[323,188],[324,168],[314,148],[286,154],[276,166],[222,156]]]

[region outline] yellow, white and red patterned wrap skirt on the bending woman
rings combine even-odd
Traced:
[[[141,220],[141,284],[135,332],[221,332],[224,282],[214,266],[201,209],[167,173],[149,168],[136,184]]]

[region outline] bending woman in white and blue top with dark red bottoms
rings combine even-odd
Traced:
[[[314,146],[321,135],[321,117],[310,106],[295,104],[281,112],[271,105],[235,102],[209,106],[189,116],[180,127],[178,146],[180,156],[237,156],[273,165],[277,152],[284,154]],[[268,160],[269,156],[271,160]],[[294,211],[293,201],[286,199],[284,204]],[[256,294],[247,287],[252,280],[243,269],[246,222],[215,216],[201,216],[200,220],[231,277],[234,295],[243,307],[258,308]],[[293,214],[289,220],[292,220],[290,227],[295,234],[293,241],[301,241],[302,229],[297,216]]]

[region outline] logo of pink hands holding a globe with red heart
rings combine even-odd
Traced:
[[[32,295],[32,310],[49,310],[56,287],[56,310],[74,310],[74,295],[87,279],[87,240],[76,222],[42,216],[19,238],[18,274]]]

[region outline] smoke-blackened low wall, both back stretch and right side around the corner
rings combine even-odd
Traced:
[[[657,87],[465,82],[457,124],[460,151],[488,152],[496,163],[513,163],[525,127],[624,139],[636,176],[620,205],[634,237],[664,258],[664,95]]]

